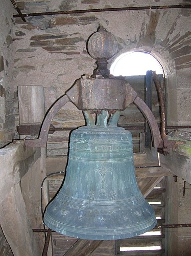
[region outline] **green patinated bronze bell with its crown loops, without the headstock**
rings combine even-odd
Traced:
[[[87,126],[70,136],[66,177],[47,206],[44,223],[66,236],[115,240],[138,236],[156,225],[154,210],[135,179],[132,135],[117,127],[120,111],[97,124],[84,112]]]

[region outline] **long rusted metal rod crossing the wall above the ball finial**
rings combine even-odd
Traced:
[[[71,10],[71,11],[56,11],[56,12],[37,12],[22,14],[25,17],[31,16],[45,16],[45,15],[61,15],[61,14],[77,14],[77,13],[91,13],[91,12],[112,12],[112,11],[139,11],[139,10],[155,10],[155,9],[180,9],[190,8],[191,5],[162,5],[162,6],[138,6],[138,7],[120,7],[120,8],[100,8],[88,10]],[[20,17],[17,14],[13,15],[14,18]]]

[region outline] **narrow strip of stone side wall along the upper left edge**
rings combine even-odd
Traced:
[[[13,6],[9,1],[0,2],[0,147],[10,142],[15,133],[16,90],[12,80]]]

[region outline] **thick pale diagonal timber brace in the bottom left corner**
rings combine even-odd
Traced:
[[[19,184],[11,188],[0,204],[0,223],[14,256],[40,255]]]

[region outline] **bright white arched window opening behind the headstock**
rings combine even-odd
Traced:
[[[146,75],[148,70],[163,74],[159,61],[149,53],[127,52],[113,62],[110,72],[114,76]]]

